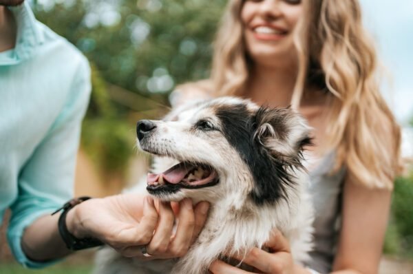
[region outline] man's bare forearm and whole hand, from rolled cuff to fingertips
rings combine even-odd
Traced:
[[[180,257],[207,220],[209,204],[193,207],[191,200],[179,204],[178,213],[171,205],[134,193],[91,199],[76,205],[67,213],[67,229],[76,238],[98,238],[126,257],[142,257],[140,246],[147,245],[151,259]],[[176,218],[180,225],[171,237]],[[44,216],[26,229],[23,251],[31,260],[45,262],[70,253],[61,240],[56,216]],[[156,233],[153,233],[156,231]]]

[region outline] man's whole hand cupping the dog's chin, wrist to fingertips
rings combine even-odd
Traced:
[[[155,258],[179,257],[187,252],[207,218],[209,204],[200,202],[193,209],[184,199],[175,215],[170,203],[149,196],[123,194],[91,199],[67,213],[67,229],[76,238],[93,237],[112,246],[126,257],[143,257],[142,246]],[[178,229],[173,235],[174,220]]]

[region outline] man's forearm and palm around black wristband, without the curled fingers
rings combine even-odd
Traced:
[[[45,215],[25,230],[21,245],[30,260],[50,262],[72,252],[59,234],[59,216]],[[92,224],[85,225],[84,220]],[[153,200],[136,194],[89,200],[76,205],[66,218],[68,230],[79,238],[93,236],[120,246],[147,244],[157,222]]]

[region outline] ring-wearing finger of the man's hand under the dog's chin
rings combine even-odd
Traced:
[[[160,202],[159,215],[160,220],[158,227],[155,234],[153,234],[151,242],[147,246],[147,253],[151,255],[167,252],[173,229],[173,222],[175,220],[169,202]]]

